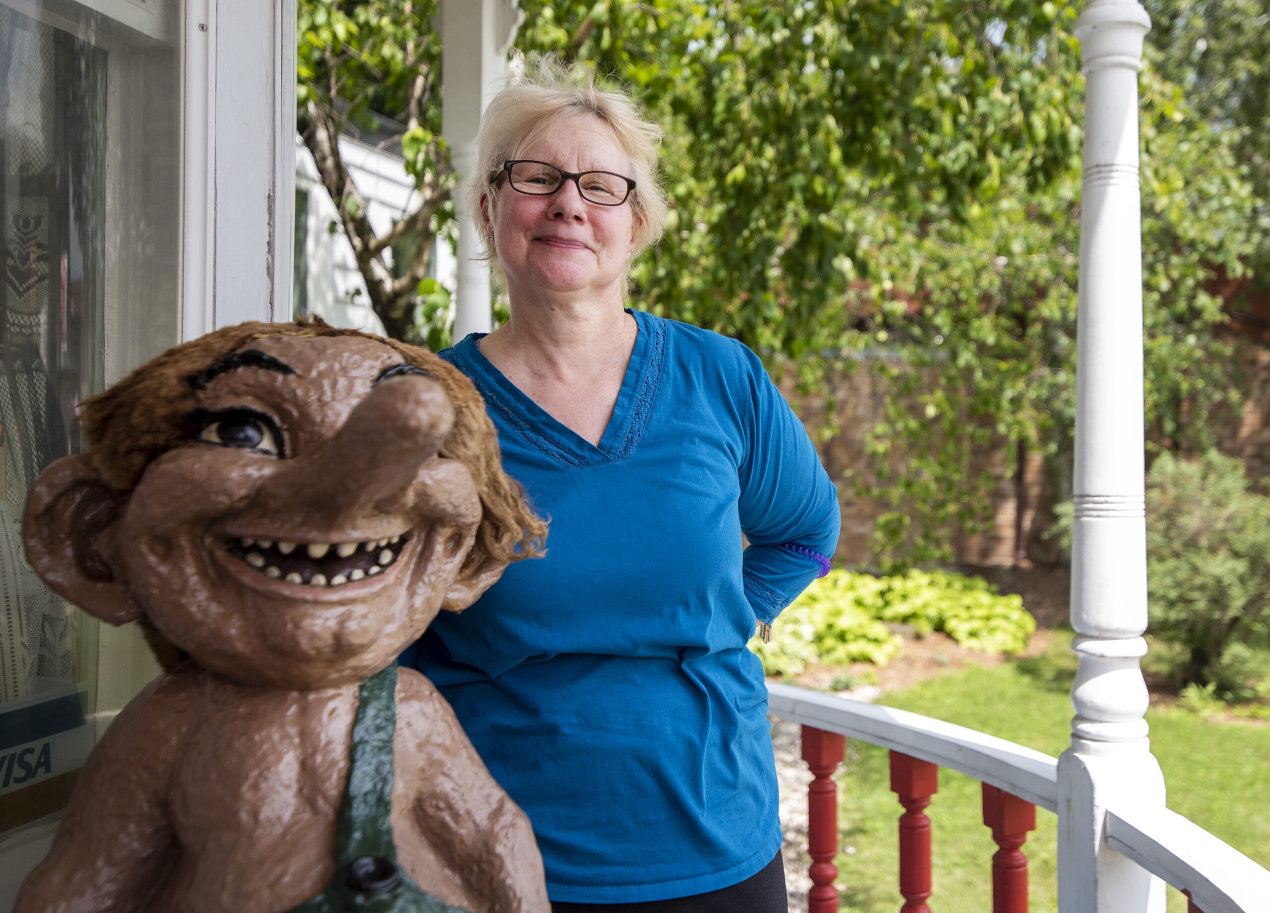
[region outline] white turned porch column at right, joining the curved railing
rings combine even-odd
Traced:
[[[1138,72],[1151,19],[1091,0],[1076,22],[1086,75],[1077,331],[1072,744],[1059,758],[1060,913],[1162,913],[1165,885],[1106,846],[1109,804],[1163,806],[1151,754],[1143,465]]]

